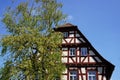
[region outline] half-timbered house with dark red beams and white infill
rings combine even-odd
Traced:
[[[95,50],[77,26],[66,23],[55,31],[64,36],[62,62],[66,70],[61,80],[110,80],[114,65]]]

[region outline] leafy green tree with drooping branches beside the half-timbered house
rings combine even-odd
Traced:
[[[64,22],[61,8],[56,0],[26,0],[8,8],[2,20],[10,33],[1,40],[1,55],[9,54],[4,80],[53,80],[62,74],[62,35],[53,30]]]

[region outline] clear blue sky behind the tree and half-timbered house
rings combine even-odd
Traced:
[[[11,0],[0,0],[0,19]],[[67,22],[77,25],[94,48],[115,65],[111,80],[120,79],[120,0],[59,0]],[[0,22],[0,35],[4,34]],[[2,58],[0,58],[2,62]],[[2,63],[0,63],[2,66]]]

